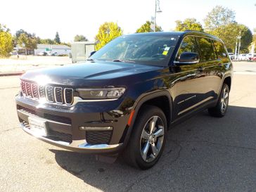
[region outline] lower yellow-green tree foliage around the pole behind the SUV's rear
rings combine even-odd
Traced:
[[[235,51],[236,39],[238,36],[241,36],[241,53],[248,52],[248,46],[252,42],[252,32],[245,25],[237,23],[221,25],[215,30],[212,30],[210,34],[222,39],[226,48],[233,52]]]

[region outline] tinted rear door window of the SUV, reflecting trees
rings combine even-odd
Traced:
[[[212,47],[212,41],[203,37],[197,37],[201,51],[201,60],[214,60],[215,52]]]

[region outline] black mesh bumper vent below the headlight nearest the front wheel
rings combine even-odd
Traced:
[[[112,131],[87,131],[85,139],[87,143],[96,144],[108,144],[112,136]]]

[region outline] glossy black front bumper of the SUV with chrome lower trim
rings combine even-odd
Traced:
[[[124,130],[128,128],[127,122],[129,114],[117,115],[116,113],[114,114],[112,110],[108,110],[108,112],[95,112],[97,105],[94,105],[94,111],[89,113],[89,106],[93,106],[91,105],[92,103],[88,105],[86,103],[77,103],[71,108],[55,108],[48,104],[40,105],[36,101],[32,101],[20,95],[16,96],[16,104],[22,129],[27,132],[27,134],[35,136],[41,141],[70,151],[94,154],[118,153],[124,146],[123,141],[126,133]],[[101,102],[101,110],[103,110],[102,107]],[[63,120],[60,122],[58,119],[49,119],[47,115],[63,117]],[[29,117],[36,117],[46,122],[51,132],[61,134],[65,139],[58,139],[58,137],[53,138],[52,136],[38,136],[30,130],[30,125],[28,124]],[[68,119],[70,119],[70,122]],[[89,143],[87,141],[86,131],[80,130],[80,126],[111,126],[113,130],[108,142]]]

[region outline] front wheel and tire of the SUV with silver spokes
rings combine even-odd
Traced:
[[[167,120],[158,107],[145,105],[139,111],[124,160],[133,167],[149,169],[158,162],[165,146]]]

